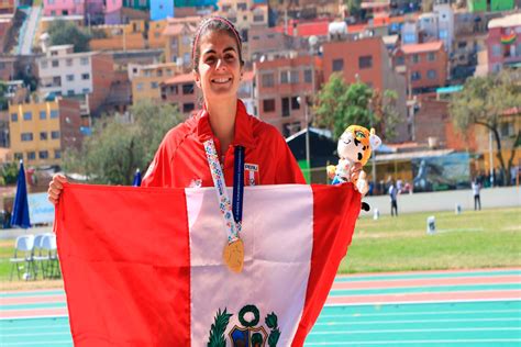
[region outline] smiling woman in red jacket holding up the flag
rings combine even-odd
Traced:
[[[279,132],[248,115],[237,99],[244,66],[241,48],[240,34],[230,21],[212,16],[201,22],[192,42],[192,60],[203,108],[166,134],[142,187],[214,186],[204,149],[210,139],[226,186],[233,184],[237,147],[244,148],[244,164],[250,171],[244,175],[246,184],[306,183]],[[352,169],[352,180],[359,171],[361,166]],[[62,175],[53,178],[48,188],[51,202],[58,202],[64,182]]]

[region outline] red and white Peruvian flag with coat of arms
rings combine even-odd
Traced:
[[[246,187],[234,273],[213,188],[66,184],[55,227],[75,346],[302,346],[359,210],[351,183]]]

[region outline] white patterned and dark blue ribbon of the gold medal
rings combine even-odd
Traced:
[[[226,225],[228,243],[231,244],[240,238],[239,233],[241,232],[244,195],[244,147],[235,146],[232,206],[213,139],[206,141],[203,145],[208,166],[212,174],[213,186],[215,186],[219,210]]]

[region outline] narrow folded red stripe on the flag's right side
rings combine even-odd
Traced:
[[[361,211],[361,194],[352,183],[311,186],[313,250],[306,303],[292,346],[302,346],[325,303],[336,270],[351,244]],[[340,227],[339,227],[340,226]]]

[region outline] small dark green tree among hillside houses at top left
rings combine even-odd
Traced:
[[[74,52],[76,53],[90,51],[89,42],[91,35],[73,22],[53,21],[47,33],[52,46],[74,45]]]

